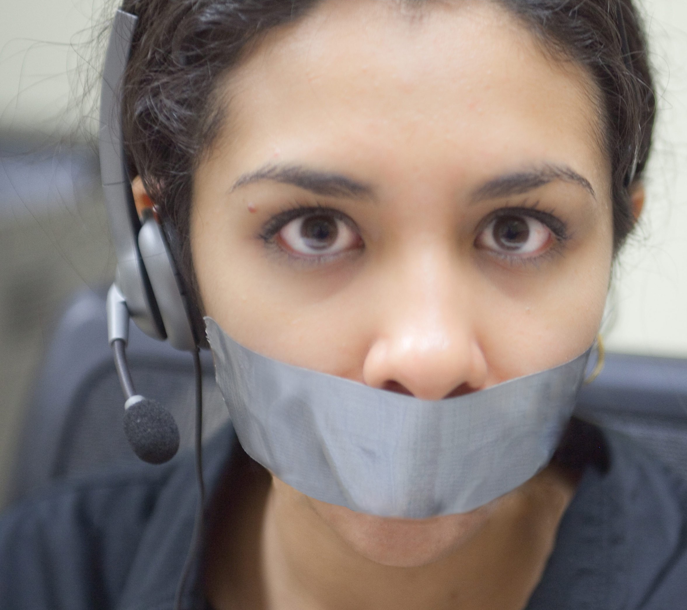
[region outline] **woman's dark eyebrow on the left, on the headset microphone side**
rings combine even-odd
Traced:
[[[352,197],[370,199],[374,191],[369,184],[357,182],[348,176],[306,168],[301,165],[267,165],[258,171],[243,174],[232,186],[232,192],[241,186],[269,180],[291,184],[323,197]]]

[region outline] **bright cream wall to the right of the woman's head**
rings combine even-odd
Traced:
[[[644,0],[660,118],[648,198],[622,252],[609,309],[609,349],[687,357],[687,2]]]

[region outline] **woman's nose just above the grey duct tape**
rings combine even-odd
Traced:
[[[424,400],[481,389],[487,364],[475,334],[469,282],[426,257],[392,274],[363,363],[369,386]]]

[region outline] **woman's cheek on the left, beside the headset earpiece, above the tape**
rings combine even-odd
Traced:
[[[201,210],[192,221],[205,315],[265,356],[360,380],[367,345],[361,340],[361,292],[368,288],[354,280],[356,265],[326,273],[290,268],[252,232],[236,231],[236,221],[222,214]]]

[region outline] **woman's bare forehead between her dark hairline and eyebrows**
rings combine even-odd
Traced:
[[[596,183],[608,172],[592,81],[491,2],[319,3],[269,32],[223,93],[216,144],[237,172],[274,157],[377,177],[413,166],[477,180],[542,161]]]

